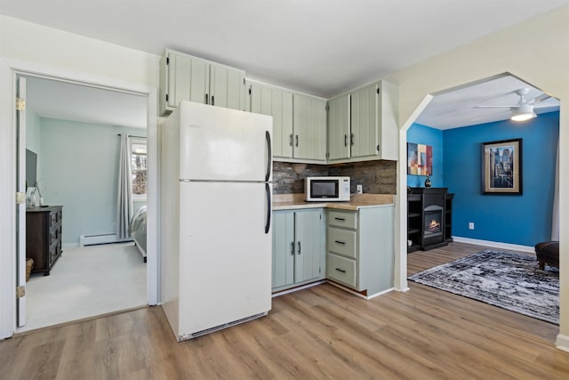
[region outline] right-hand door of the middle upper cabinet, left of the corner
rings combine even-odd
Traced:
[[[326,161],[325,100],[295,93],[293,112],[293,158]]]

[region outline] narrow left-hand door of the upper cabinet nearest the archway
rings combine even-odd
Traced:
[[[328,159],[349,158],[349,94],[328,101]]]

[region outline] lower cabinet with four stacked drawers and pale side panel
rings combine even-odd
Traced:
[[[326,277],[371,296],[393,287],[393,206],[328,210]]]

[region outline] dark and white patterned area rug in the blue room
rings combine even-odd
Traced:
[[[486,249],[409,279],[559,324],[559,271],[531,255]]]

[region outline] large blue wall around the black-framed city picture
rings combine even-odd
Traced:
[[[523,139],[523,195],[482,195],[480,144],[517,138]],[[558,138],[559,112],[523,123],[506,120],[443,131],[443,183],[454,193],[453,236],[529,247],[549,240]]]

